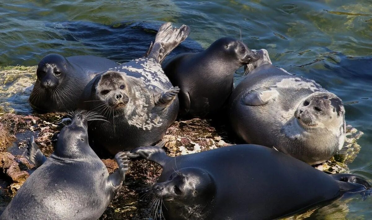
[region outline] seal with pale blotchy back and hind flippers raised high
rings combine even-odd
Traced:
[[[95,77],[84,89],[79,108],[94,110],[110,123],[89,124],[95,149],[112,155],[160,140],[177,117],[178,87],[173,87],[160,63],[189,35],[183,25],[165,23],[154,43],[140,59],[122,64]]]

